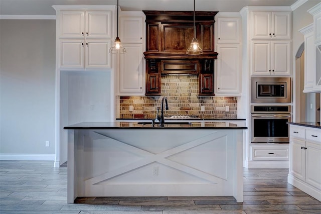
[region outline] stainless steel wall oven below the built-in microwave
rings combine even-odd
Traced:
[[[251,105],[252,143],[289,143],[290,105]]]

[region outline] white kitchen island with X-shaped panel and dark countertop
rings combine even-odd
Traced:
[[[247,127],[230,122],[80,123],[68,130],[68,202],[94,196],[234,196]]]

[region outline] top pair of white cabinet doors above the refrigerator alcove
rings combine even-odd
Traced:
[[[59,15],[61,39],[111,39],[111,11],[63,10]]]

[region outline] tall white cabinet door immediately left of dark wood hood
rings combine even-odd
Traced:
[[[142,44],[123,44],[126,54],[119,55],[119,94],[144,93],[144,55]]]

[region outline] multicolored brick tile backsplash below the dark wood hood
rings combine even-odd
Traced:
[[[161,78],[162,96],[120,96],[121,119],[154,119],[162,98],[168,99],[166,116],[195,115],[200,118],[237,118],[237,97],[198,96],[199,80],[196,75],[168,75]],[[129,105],[133,111],[129,112]],[[205,112],[201,112],[201,106]],[[225,106],[230,108],[225,112]]]

